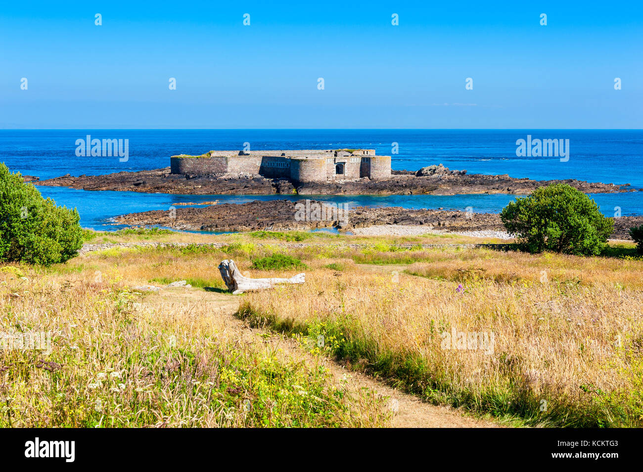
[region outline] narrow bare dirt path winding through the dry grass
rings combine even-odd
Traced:
[[[280,334],[267,332],[269,336],[258,336],[266,334],[262,329],[253,329],[242,320],[239,320],[235,313],[239,308],[239,296],[226,293],[208,292],[202,289],[165,289],[158,294],[150,294],[143,301],[145,304],[159,305],[165,307],[172,304],[182,305],[189,308],[190,305],[209,305],[212,310],[213,320],[225,326],[222,333],[232,340],[243,340],[252,343],[273,343],[284,350],[285,354],[296,360],[312,361],[311,356],[291,338]],[[382,381],[373,379],[359,372],[347,370],[345,367],[324,358],[323,365],[332,373],[337,383],[345,383],[349,388],[358,390],[369,388],[379,395],[389,397],[389,408],[395,413],[393,419],[394,428],[498,428],[498,424],[476,419],[465,415],[458,410],[448,406],[435,406],[424,403],[418,397],[405,394],[392,388]]]

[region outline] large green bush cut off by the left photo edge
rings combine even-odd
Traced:
[[[56,206],[32,184],[0,163],[0,261],[50,265],[65,262],[82,246],[76,209]]]

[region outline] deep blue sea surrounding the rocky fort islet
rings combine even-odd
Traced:
[[[77,157],[76,140],[127,139],[129,158]],[[569,159],[516,157],[516,140],[569,140]],[[631,184],[643,188],[643,131],[640,130],[401,130],[401,129],[243,129],[243,130],[0,130],[0,161],[12,171],[41,177],[110,174],[167,167],[174,154],[203,154],[211,149],[369,148],[392,156],[392,168],[417,170],[442,163],[470,174],[509,174],[530,179],[579,179]],[[397,143],[397,146],[395,146]],[[395,152],[397,150],[397,152]],[[111,218],[146,210],[167,210],[177,202],[219,200],[242,203],[300,199],[301,195],[176,195],[138,192],[89,192],[39,186],[57,204],[78,208],[86,228],[112,230]],[[601,211],[613,216],[643,215],[643,192],[593,194]],[[338,195],[315,199],[368,206],[444,208],[499,212],[513,195]]]

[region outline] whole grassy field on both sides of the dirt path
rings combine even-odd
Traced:
[[[50,268],[1,269],[2,331],[51,332],[51,354],[0,351],[0,426],[390,424],[385,398],[342,388],[318,356],[475,415],[643,426],[643,260],[633,244],[586,258],[417,246],[480,242],[444,235],[88,238],[224,246],[113,248]],[[291,277],[305,266],[306,282],[224,295],[222,259],[248,277]],[[293,260],[303,265],[283,265]],[[255,331],[231,327],[206,299],[131,288],[175,280],[227,297]],[[280,349],[293,338],[324,341],[294,359]]]

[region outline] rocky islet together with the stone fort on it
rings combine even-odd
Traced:
[[[194,195],[528,195],[552,183],[566,183],[590,194],[636,191],[629,184],[467,174],[442,164],[417,171],[392,170],[391,157],[377,156],[374,149],[212,150],[200,156],[172,156],[170,167],[154,170],[67,174],[38,181],[38,185],[83,190]]]

